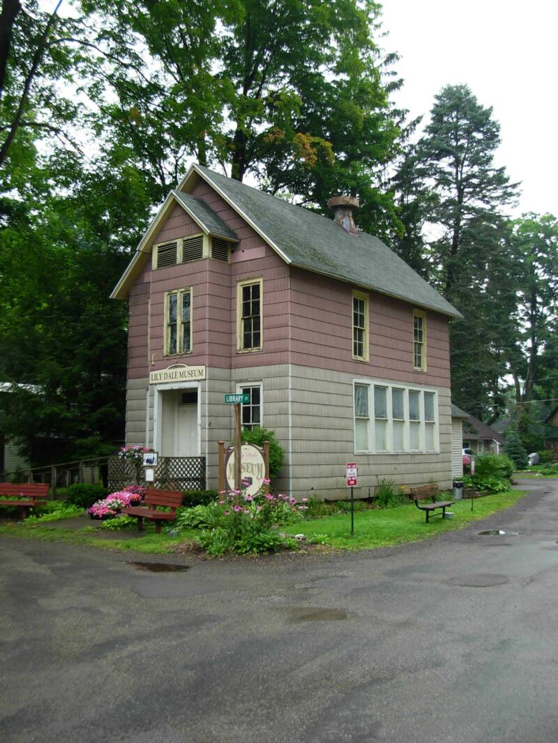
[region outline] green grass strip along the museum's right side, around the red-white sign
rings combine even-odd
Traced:
[[[420,542],[437,534],[463,529],[470,522],[484,519],[491,513],[512,506],[525,491],[509,490],[485,498],[476,498],[471,511],[470,500],[458,501],[449,508],[455,516],[453,519],[442,519],[434,516],[426,524],[423,511],[413,504],[404,504],[394,508],[373,509],[355,513],[355,533],[350,536],[350,513],[322,516],[310,519],[285,528],[289,534],[306,536],[324,535],[332,547],[343,550],[364,550],[375,547],[400,545],[404,542]]]

